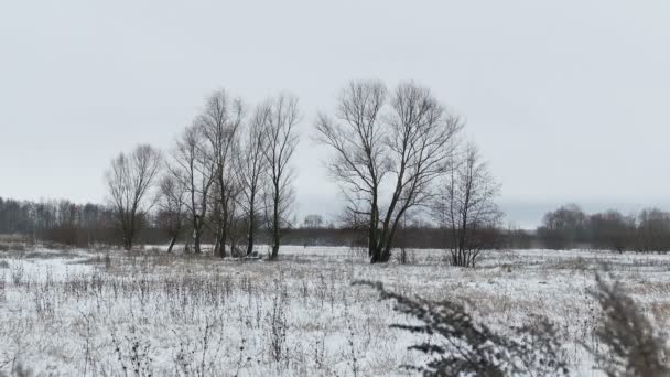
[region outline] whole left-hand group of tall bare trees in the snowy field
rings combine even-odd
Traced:
[[[153,211],[171,237],[170,250],[188,231],[187,248],[201,254],[208,231],[215,255],[250,256],[258,230],[267,228],[270,258],[277,258],[293,203],[289,163],[299,119],[295,97],[280,95],[248,111],[219,90],[166,155],[147,144],[120,153],[106,177],[126,249],[137,237],[138,218]],[[239,247],[242,235],[246,249]]]

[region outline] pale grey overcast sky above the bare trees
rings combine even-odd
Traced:
[[[0,196],[101,202],[109,160],[169,149],[212,90],[288,90],[300,213],[332,213],[315,114],[379,78],[467,119],[517,225],[564,202],[663,205],[669,21],[664,0],[2,1]]]

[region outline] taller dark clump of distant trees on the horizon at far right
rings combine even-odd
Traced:
[[[658,208],[624,215],[618,211],[585,214],[568,204],[544,215],[538,239],[549,248],[593,247],[622,251],[670,250],[670,213]]]

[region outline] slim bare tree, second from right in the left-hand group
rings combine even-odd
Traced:
[[[266,128],[268,127],[271,107],[259,105],[250,119],[246,134],[242,137],[241,152],[237,154],[237,177],[240,184],[240,205],[247,217],[247,256],[253,252],[256,229],[259,214],[262,213],[262,194],[266,185],[267,147]]]

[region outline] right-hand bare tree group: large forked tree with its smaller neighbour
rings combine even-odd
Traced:
[[[377,80],[352,82],[334,115],[320,114],[317,140],[333,151],[327,163],[341,183],[352,227],[367,230],[372,263],[387,262],[406,216],[429,209],[450,239],[452,263],[474,266],[489,247],[499,186],[475,147],[462,148],[464,123],[433,93],[413,82],[391,93]]]

